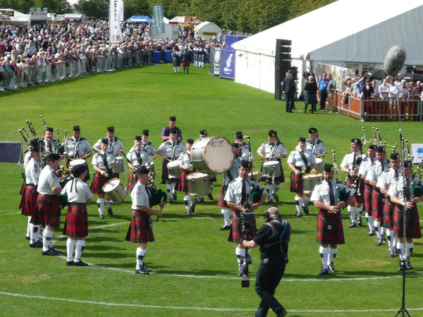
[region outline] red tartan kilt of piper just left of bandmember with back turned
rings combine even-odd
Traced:
[[[49,225],[53,228],[60,227],[60,206],[57,195],[45,196],[38,194],[37,206],[31,218],[34,225]]]

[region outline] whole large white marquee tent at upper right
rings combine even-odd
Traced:
[[[292,40],[300,74],[317,63],[381,68],[393,45],[405,49],[405,65],[423,70],[422,17],[422,0],[338,0],[234,43],[235,82],[274,93],[276,39]]]

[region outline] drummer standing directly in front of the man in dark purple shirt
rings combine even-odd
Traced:
[[[173,200],[176,200],[176,190],[173,180],[169,178],[167,165],[171,161],[178,159],[178,156],[187,151],[183,143],[178,140],[178,130],[176,128],[171,128],[169,132],[169,137],[167,141],[163,142],[159,149],[157,149],[157,154],[163,158],[163,168],[161,169],[161,179],[166,181],[166,190],[169,196],[169,203]]]

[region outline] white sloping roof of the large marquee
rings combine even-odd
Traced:
[[[293,58],[304,59],[313,51],[345,39],[345,37],[369,30],[369,28],[375,25],[396,18],[398,15],[412,11],[415,8],[423,8],[421,0],[402,1],[400,5],[398,5],[398,0],[355,0],[353,3],[350,0],[338,0],[305,15],[301,15],[298,18],[289,20],[286,23],[276,25],[256,35],[247,37],[247,39],[236,42],[233,44],[233,48],[241,51],[275,56],[276,39],[291,39],[291,56]],[[364,12],[369,14],[366,15]],[[407,21],[405,20],[405,22]],[[405,22],[401,20],[396,25],[406,28],[407,32],[410,32],[412,29],[416,31],[421,29],[421,27],[419,28],[416,25]],[[400,23],[404,24],[400,25]],[[399,43],[399,38],[396,37],[398,33],[395,27],[391,28],[391,30],[393,32],[391,33],[391,37],[388,37],[387,32],[385,32],[385,37],[379,35],[377,42],[372,43],[375,44],[374,46],[379,44],[384,45],[385,53],[381,58],[386,56],[386,51],[391,46]],[[415,34],[417,35],[417,33]],[[364,34],[362,33],[362,35]],[[359,51],[363,46],[364,39],[366,38],[362,37],[361,42],[354,43],[357,46],[347,46],[346,49],[351,50],[355,48],[354,51]],[[413,39],[413,41],[416,42],[416,39]],[[417,42],[419,41],[417,40]],[[407,51],[406,47],[405,50]],[[326,49],[325,53],[326,56],[331,56],[333,53],[338,54],[338,52],[333,52],[329,49]]]

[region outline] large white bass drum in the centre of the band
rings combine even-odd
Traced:
[[[192,165],[202,173],[225,173],[234,160],[232,144],[224,137],[204,137],[192,145]]]

